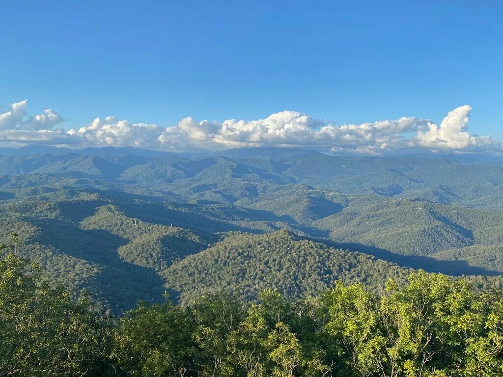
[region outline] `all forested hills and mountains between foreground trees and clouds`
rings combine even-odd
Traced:
[[[410,268],[498,287],[502,189],[497,157],[27,146],[0,156],[0,230],[115,313],[165,290],[184,305],[218,290],[300,297]]]

